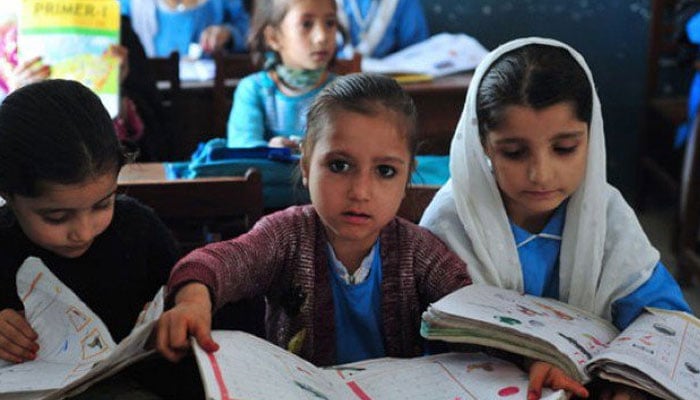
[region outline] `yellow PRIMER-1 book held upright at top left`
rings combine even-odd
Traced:
[[[119,112],[117,0],[21,0],[17,51],[20,60],[42,57],[51,78],[82,82],[112,117]]]

